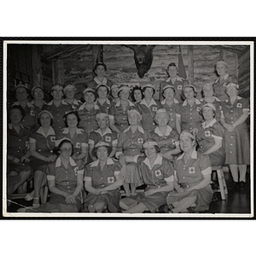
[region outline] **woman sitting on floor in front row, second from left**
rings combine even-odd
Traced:
[[[119,187],[124,182],[125,165],[109,158],[108,143],[96,143],[93,154],[97,160],[85,167],[84,188],[89,192],[84,200],[84,212],[119,212]]]

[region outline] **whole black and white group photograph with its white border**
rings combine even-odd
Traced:
[[[253,50],[4,40],[3,217],[253,218]]]

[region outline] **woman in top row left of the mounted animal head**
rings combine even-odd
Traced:
[[[96,86],[99,84],[107,84],[108,88],[111,88],[112,81],[105,77],[107,71],[107,66],[103,62],[96,63],[96,66],[93,68],[93,72],[96,74],[96,77],[90,81],[88,87],[92,90],[96,90]]]

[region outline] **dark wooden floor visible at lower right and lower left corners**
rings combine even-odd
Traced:
[[[215,194],[215,201],[212,201],[209,211],[207,213],[250,213],[251,201],[250,201],[250,180],[249,173],[247,173],[247,189],[246,190],[233,190],[232,177],[230,172],[224,172],[224,177],[228,186],[229,194],[225,201],[221,200],[220,193]],[[13,200],[19,205],[12,203],[8,207],[8,212],[16,212],[21,206],[31,207],[32,201],[25,201],[24,199]],[[21,205],[21,206],[20,206]]]

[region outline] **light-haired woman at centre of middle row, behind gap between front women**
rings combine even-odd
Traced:
[[[116,157],[119,158],[122,155],[134,156],[141,154],[143,149],[143,142],[149,137],[148,132],[144,131],[139,125],[142,119],[141,114],[136,108],[128,111],[128,120],[130,126],[123,131],[119,136]],[[131,190],[129,188],[131,184]],[[136,195],[136,188],[142,184],[141,176],[138,172],[137,165],[131,163],[126,168],[125,173],[125,195]]]

